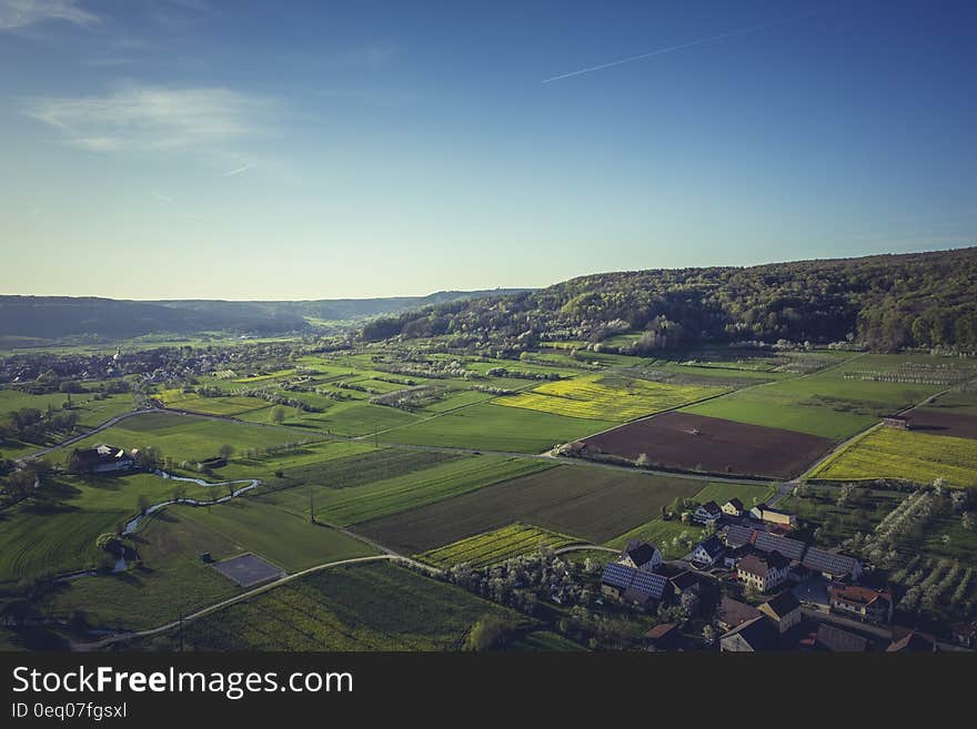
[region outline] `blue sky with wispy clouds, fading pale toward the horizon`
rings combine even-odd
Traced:
[[[0,0],[0,293],[973,245],[975,31],[971,2]]]

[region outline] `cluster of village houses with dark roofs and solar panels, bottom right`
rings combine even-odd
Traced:
[[[792,515],[765,504],[747,513],[737,499],[723,507],[702,504],[693,513],[701,524],[715,525],[723,517],[733,517],[733,523],[722,537],[713,534],[683,560],[665,561],[656,546],[629,543],[605,567],[603,594],[645,609],[697,608],[711,579],[757,597],[768,595],[756,606],[721,596],[708,619],[719,631],[723,651],[936,650],[933,636],[895,627],[892,640],[880,644],[878,636],[887,632],[880,626],[893,619],[892,593],[858,584],[864,567],[857,558],[786,536]],[[795,590],[802,583],[820,586],[819,601],[809,600],[802,588]],[[646,638],[656,650],[681,647],[677,624],[657,625]]]

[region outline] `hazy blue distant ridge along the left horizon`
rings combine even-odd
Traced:
[[[0,296],[0,337],[63,340],[92,336],[127,340],[147,334],[200,332],[275,335],[311,332],[319,322],[353,327],[393,315],[469,297],[518,290],[443,291],[427,296],[335,298],[303,302],[124,301],[73,296]]]

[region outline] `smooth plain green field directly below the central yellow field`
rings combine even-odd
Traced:
[[[507,398],[502,398],[507,399]],[[501,401],[497,401],[501,402]],[[381,436],[382,442],[542,453],[554,445],[614,427],[591,421],[502,407],[495,402],[465,407]]]

